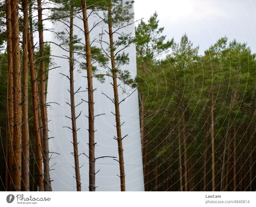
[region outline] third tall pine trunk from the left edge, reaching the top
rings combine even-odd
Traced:
[[[22,0],[23,36],[22,36],[22,190],[29,191],[29,131],[28,131],[28,0]]]

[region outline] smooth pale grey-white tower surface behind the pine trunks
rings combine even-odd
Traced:
[[[90,16],[88,21],[90,27],[96,21],[96,17]],[[75,18],[74,24],[78,27],[83,28],[83,22]],[[52,25],[55,32],[64,31],[64,24],[58,23]],[[104,26],[106,27],[106,25]],[[105,28],[107,29],[107,27]],[[90,33],[91,41],[99,38],[99,33],[102,31],[102,26],[98,26]],[[124,32],[134,33],[134,24],[129,25],[124,29]],[[81,42],[84,42],[84,33],[74,27],[74,34],[82,38]],[[105,35],[105,40],[108,36]],[[117,37],[115,37],[117,38]],[[55,35],[51,36],[52,42],[58,42]],[[60,41],[59,41],[60,43]],[[98,43],[92,43],[94,46],[98,46]],[[136,76],[136,50],[135,45],[131,45],[126,48],[125,53],[129,53],[130,63],[128,65],[121,66],[121,70],[129,70],[132,77]],[[54,56],[52,62],[54,62],[59,68],[55,68],[49,71],[48,85],[47,85],[47,103],[48,106],[48,127],[49,127],[49,151],[53,153],[50,159],[51,166],[51,180],[52,190],[54,191],[76,191],[76,180],[75,180],[75,169],[74,169],[74,157],[71,154],[73,152],[72,145],[72,131],[67,128],[71,128],[71,117],[70,106],[66,103],[70,103],[69,94],[69,80],[61,75],[65,74],[69,76],[69,62],[67,57],[69,53],[61,49],[58,45],[51,44],[51,54]],[[61,58],[62,57],[62,58]],[[77,61],[84,61],[79,59]],[[79,89],[80,92],[75,94],[76,105],[81,103],[81,99],[87,100],[88,94],[86,92],[87,79],[86,70],[81,69],[78,63],[75,63],[74,70],[74,90]],[[106,70],[99,68],[100,70]],[[96,78],[93,79],[93,88],[96,89],[94,92],[94,115],[105,114],[95,117],[95,158],[101,156],[113,156],[118,159],[117,141],[113,138],[116,136],[115,128],[115,116],[111,113],[115,111],[114,104],[102,94],[107,94],[110,98],[114,98],[113,87],[110,84],[112,82],[111,77],[106,77],[104,83],[100,83]],[[123,84],[120,82],[120,86]],[[127,93],[123,94],[121,87],[118,88],[119,100],[124,99],[133,92],[134,89],[130,89],[125,86]],[[55,102],[55,103],[53,103]],[[58,103],[58,104],[56,104]],[[88,104],[83,101],[76,107],[76,116],[81,115],[76,119],[76,127],[78,139],[78,153],[80,175],[81,175],[81,187],[82,191],[88,191],[89,188],[89,163],[88,158],[84,155],[89,156],[88,150]],[[141,143],[140,143],[140,121],[139,121],[139,102],[138,93],[135,91],[125,101],[120,104],[120,115],[122,125],[122,136],[128,134],[123,139],[124,148],[124,165],[125,165],[125,182],[126,191],[144,191],[143,182],[143,169],[142,169],[142,155],[141,155]],[[65,128],[64,128],[65,127]],[[58,154],[57,154],[58,153]],[[84,154],[83,154],[84,153]],[[59,155],[60,154],[60,155]],[[50,154],[51,155],[51,154]],[[96,174],[96,191],[120,191],[120,175],[119,163],[113,158],[97,159],[95,163]]]

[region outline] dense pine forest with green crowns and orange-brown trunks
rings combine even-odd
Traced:
[[[0,189],[52,191],[46,103],[52,63],[45,22],[66,24],[56,33],[69,52],[68,80],[76,190],[81,191],[74,95],[74,54],[86,70],[89,135],[89,190],[95,191],[93,82],[112,78],[120,190],[125,191],[122,122],[118,80],[138,90],[145,191],[255,191],[256,54],[246,43],[220,37],[199,54],[185,33],[167,40],[155,12],[134,20],[133,1],[5,0],[0,5]],[[99,23],[88,16],[98,12]],[[74,18],[83,21],[84,38],[74,33]],[[107,49],[92,46],[90,25],[105,24]],[[135,37],[119,29],[135,24]],[[166,26],[168,27],[168,26]],[[102,34],[103,35],[103,34]],[[100,40],[99,40],[100,41]],[[102,39],[101,39],[102,41]],[[52,43],[52,42],[51,42]],[[120,67],[129,64],[121,48],[136,45],[137,76]],[[97,66],[106,68],[106,73]],[[111,67],[107,65],[110,64]],[[255,70],[255,71],[254,71]],[[104,94],[107,98],[108,95]],[[104,104],[104,103],[102,103]],[[86,155],[87,156],[87,155]],[[107,156],[106,156],[107,157]],[[97,158],[98,159],[98,158]]]

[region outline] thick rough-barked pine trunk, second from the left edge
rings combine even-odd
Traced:
[[[11,2],[12,17],[12,66],[13,66],[13,154],[12,181],[16,191],[21,190],[21,80],[20,80],[20,37],[19,37],[19,3]]]

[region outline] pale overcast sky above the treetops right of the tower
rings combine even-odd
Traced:
[[[256,52],[256,0],[135,0],[135,19],[154,11],[167,39],[178,42],[186,32],[200,54],[225,35]]]

